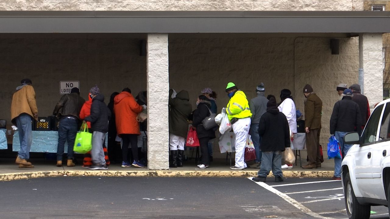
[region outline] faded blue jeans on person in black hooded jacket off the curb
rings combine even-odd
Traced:
[[[262,152],[260,170],[257,172],[257,175],[259,177],[267,177],[271,169],[275,177],[283,177],[282,152],[280,150]]]

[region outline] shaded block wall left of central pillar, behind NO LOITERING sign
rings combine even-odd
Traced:
[[[20,80],[32,79],[39,116],[53,113],[60,81],[80,81],[84,99],[95,84],[105,102],[112,92],[146,90],[146,56],[137,39],[0,39],[0,119],[10,123],[12,94]]]

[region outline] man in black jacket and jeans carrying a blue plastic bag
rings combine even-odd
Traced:
[[[352,145],[344,144],[344,136],[348,132],[358,132],[362,127],[362,116],[359,105],[352,100],[352,90],[345,89],[341,101],[337,101],[330,117],[330,134],[339,141],[342,157],[347,154]],[[335,157],[335,175],[333,180],[341,180],[342,158]]]

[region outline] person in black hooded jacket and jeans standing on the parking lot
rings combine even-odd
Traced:
[[[286,116],[279,112],[273,97],[267,103],[267,112],[260,118],[259,135],[261,136],[261,164],[257,177],[253,180],[265,182],[272,169],[275,182],[283,182],[282,152],[290,147],[290,129]]]

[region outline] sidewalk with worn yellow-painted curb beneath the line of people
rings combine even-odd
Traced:
[[[89,170],[81,164],[75,167],[57,167],[56,161],[44,159],[32,159],[34,168],[20,169],[14,163],[14,159],[0,159],[0,181],[18,180],[37,177],[58,177],[58,176],[116,176],[116,177],[255,177],[259,169],[230,170],[225,159],[215,159],[211,166],[206,169],[199,169],[195,160],[183,163],[183,168],[171,168],[170,170],[148,170],[147,168],[128,167],[122,168],[119,164],[110,165],[108,170]],[[334,161],[325,160],[321,169],[303,170],[299,166],[293,169],[283,170],[284,177],[333,177]],[[302,161],[302,164],[306,162]],[[271,175],[271,173],[270,173]]]

